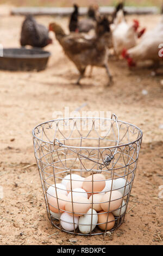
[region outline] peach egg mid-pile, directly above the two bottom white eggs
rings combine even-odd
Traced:
[[[89,199],[85,197],[73,197],[73,206],[72,202],[66,202],[65,204],[65,210],[70,214],[73,215],[72,212],[74,212],[74,216],[80,216],[83,214],[86,214],[86,212],[90,209],[91,205],[89,202]]]

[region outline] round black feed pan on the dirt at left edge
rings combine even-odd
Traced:
[[[0,69],[41,71],[46,69],[49,56],[51,53],[37,48],[4,48],[3,57],[0,57]]]

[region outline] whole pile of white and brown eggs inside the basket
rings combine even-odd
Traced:
[[[69,174],[60,184],[49,186],[47,199],[51,215],[60,220],[63,229],[73,231],[78,227],[82,234],[89,234],[96,225],[101,230],[114,227],[115,217],[126,211],[123,197],[129,190],[124,178],[105,179],[103,174],[83,178]]]

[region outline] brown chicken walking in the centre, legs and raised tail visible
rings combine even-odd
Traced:
[[[96,36],[87,39],[83,34],[71,33],[66,35],[64,30],[57,23],[49,25],[49,31],[55,33],[56,39],[64,49],[68,58],[76,65],[80,79],[84,76],[86,67],[101,66],[106,69],[111,82],[111,75],[108,68],[108,38],[110,35],[109,21],[104,17],[97,22]]]

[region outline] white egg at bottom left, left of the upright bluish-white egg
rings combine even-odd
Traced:
[[[60,220],[62,228],[64,228],[67,231],[73,231],[74,228],[76,229],[78,227],[79,217],[74,217],[73,225],[73,216],[70,216],[69,214],[67,214],[67,212],[63,212],[61,214]]]

